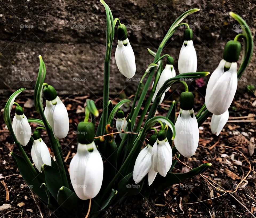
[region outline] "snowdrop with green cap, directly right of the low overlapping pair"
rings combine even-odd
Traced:
[[[182,92],[179,99],[181,109],[174,125],[174,145],[181,155],[189,158],[197,150],[199,141],[197,118],[193,110],[194,96],[192,92]]]

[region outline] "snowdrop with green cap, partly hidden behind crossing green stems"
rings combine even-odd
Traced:
[[[166,82],[166,80],[168,80],[170,78],[173,78],[174,76],[176,76],[176,72],[175,72],[175,69],[173,67],[173,57],[168,57],[167,61],[166,61],[166,66],[163,69],[163,71],[162,71],[162,73],[161,73],[161,75],[159,77],[159,80],[158,80],[158,83],[157,83],[157,87],[156,87],[155,93],[154,93],[153,98],[152,98],[152,102],[154,102],[155,97],[157,96],[158,91],[163,86],[163,84]],[[153,82],[153,85],[154,85],[154,83],[155,83],[155,81]],[[165,92],[167,92],[169,89],[170,89],[170,87],[168,87],[165,90]],[[159,104],[161,104],[163,102],[164,96],[165,96],[165,93],[163,93]]]

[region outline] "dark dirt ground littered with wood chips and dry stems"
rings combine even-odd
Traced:
[[[203,97],[197,90],[195,111],[199,110]],[[169,92],[167,99],[178,99],[177,92]],[[169,97],[169,98],[168,98]],[[60,140],[67,165],[76,152],[74,131],[84,117],[84,102],[88,96],[70,96],[63,98],[69,112],[70,132]],[[113,104],[122,98],[112,96]],[[53,213],[30,191],[17,170],[10,151],[18,153],[9,136],[3,121],[3,108],[7,96],[1,98],[1,130],[0,130],[0,218],[3,217],[63,217]],[[27,118],[39,118],[31,104],[32,96],[25,94],[17,99],[25,104]],[[98,108],[102,108],[102,98],[91,96]],[[165,114],[170,100],[165,100],[159,108],[159,114]],[[209,128],[210,120],[206,120],[199,130],[199,146],[191,158],[181,157],[173,172],[187,172],[189,167],[197,167],[202,163],[212,163],[203,175],[182,181],[160,192],[154,191],[149,198],[143,194],[129,197],[121,204],[106,208],[107,214],[100,217],[255,217],[256,216],[256,152],[254,146],[256,98],[253,92],[237,93],[230,108],[230,118],[225,131],[219,136],[213,135]],[[178,110],[176,110],[178,111]],[[99,110],[99,112],[101,112]],[[12,110],[11,116],[14,115]],[[49,145],[46,133],[43,140]],[[228,146],[228,147],[225,147]],[[30,157],[28,146],[25,151]],[[186,165],[184,165],[186,164]],[[251,166],[251,171],[249,168]],[[249,172],[249,175],[247,173]],[[239,182],[246,179],[239,184]],[[237,185],[239,187],[237,188]],[[237,190],[235,191],[235,189]],[[225,190],[235,191],[233,193]],[[87,211],[85,211],[86,213]],[[82,216],[81,216],[82,217]],[[84,217],[84,216],[83,216]]]

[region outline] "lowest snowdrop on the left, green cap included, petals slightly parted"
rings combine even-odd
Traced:
[[[43,164],[51,166],[51,156],[48,147],[41,139],[41,135],[38,130],[34,131],[33,138],[34,142],[31,149],[31,157],[35,167],[39,172],[41,172]]]

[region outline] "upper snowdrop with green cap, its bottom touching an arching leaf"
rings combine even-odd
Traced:
[[[192,38],[192,30],[186,29],[184,31],[185,41],[181,47],[178,60],[178,69],[180,74],[197,71],[197,53],[195,52]]]

